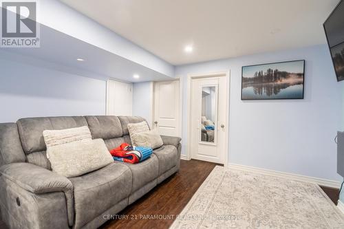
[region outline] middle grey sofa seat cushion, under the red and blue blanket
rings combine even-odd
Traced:
[[[134,193],[139,188],[153,181],[158,177],[159,162],[156,155],[152,154],[147,160],[136,164],[124,163],[115,161],[117,164],[125,164],[131,170],[133,175],[133,187],[131,193]]]

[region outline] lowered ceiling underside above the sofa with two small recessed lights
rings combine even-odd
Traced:
[[[2,49],[0,58],[101,80],[116,78],[136,83],[171,79],[169,76],[45,25],[41,25],[40,48]],[[79,62],[76,58],[83,58],[85,61]],[[134,74],[138,74],[140,78],[133,78]]]

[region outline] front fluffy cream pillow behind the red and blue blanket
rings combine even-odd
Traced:
[[[131,136],[131,143],[134,146],[148,147],[151,149],[157,149],[164,144],[162,138],[155,130],[134,133]]]

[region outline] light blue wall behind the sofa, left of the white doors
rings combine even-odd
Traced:
[[[106,81],[0,59],[0,122],[105,115]]]

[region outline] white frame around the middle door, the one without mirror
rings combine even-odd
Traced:
[[[182,121],[183,121],[183,80],[180,76],[177,76],[171,80],[161,80],[161,81],[155,81],[153,82],[153,106],[152,106],[152,129],[154,127],[154,121],[155,121],[155,83],[160,82],[172,82],[172,81],[179,81],[179,114],[178,114],[178,137],[182,138]]]

